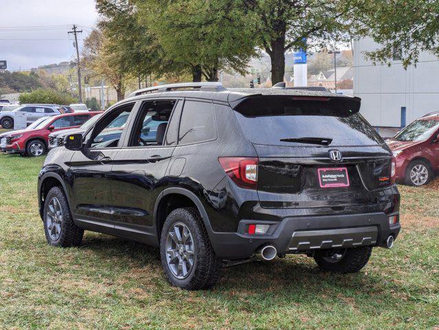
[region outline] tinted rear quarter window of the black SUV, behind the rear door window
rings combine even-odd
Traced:
[[[214,140],[216,126],[212,103],[185,101],[179,129],[179,144]]]

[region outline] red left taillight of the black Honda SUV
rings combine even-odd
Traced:
[[[256,189],[258,182],[257,157],[219,157],[225,173],[242,188]]]

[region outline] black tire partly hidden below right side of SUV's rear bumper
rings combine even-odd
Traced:
[[[341,254],[341,258],[332,260],[330,255],[336,253]],[[361,246],[350,249],[322,250],[315,254],[314,259],[321,270],[346,274],[359,272],[368,263],[370,254],[372,254],[372,246]]]

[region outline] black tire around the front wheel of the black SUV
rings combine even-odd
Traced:
[[[48,212],[49,204],[52,199],[56,199],[59,202],[60,210],[62,211],[62,220],[60,221],[60,234],[59,237],[54,238],[49,232],[48,228]],[[60,246],[63,248],[71,246],[79,246],[84,236],[84,230],[78,228],[71,218],[69,204],[67,198],[64,195],[63,190],[59,187],[54,187],[49,190],[45,198],[44,211],[43,211],[43,223],[46,240],[49,245]]]

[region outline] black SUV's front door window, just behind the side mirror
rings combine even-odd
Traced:
[[[117,146],[126,126],[126,121],[134,107],[134,103],[113,109],[110,115],[100,120],[93,130],[90,148],[112,148]]]

